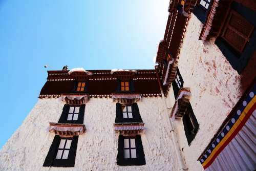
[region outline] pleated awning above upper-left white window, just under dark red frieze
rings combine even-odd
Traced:
[[[67,104],[85,104],[89,100],[89,94],[61,94],[59,100],[65,100]]]

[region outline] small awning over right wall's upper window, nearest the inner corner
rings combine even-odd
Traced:
[[[163,85],[166,85],[172,82],[175,79],[176,74],[177,74],[177,66],[174,63],[174,58],[172,58],[172,60],[168,62]]]

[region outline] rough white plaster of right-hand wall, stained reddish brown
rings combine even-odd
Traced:
[[[190,88],[190,103],[199,123],[199,131],[188,146],[182,119],[175,120],[188,170],[203,170],[198,157],[241,97],[241,77],[237,71],[232,69],[213,41],[198,40],[202,26],[191,14],[178,60],[183,87]],[[172,88],[166,99],[174,105]]]

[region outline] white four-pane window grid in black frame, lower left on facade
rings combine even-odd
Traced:
[[[56,159],[68,159],[71,142],[71,139],[60,140]]]

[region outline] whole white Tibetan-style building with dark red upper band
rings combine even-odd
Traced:
[[[168,13],[152,70],[48,71],[0,170],[255,170],[255,1]]]

